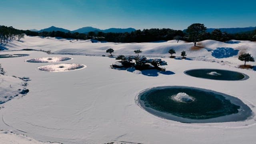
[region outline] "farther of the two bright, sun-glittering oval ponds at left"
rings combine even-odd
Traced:
[[[65,57],[46,57],[46,58],[32,58],[25,60],[26,62],[61,62],[65,60],[72,60],[72,58],[65,58]]]

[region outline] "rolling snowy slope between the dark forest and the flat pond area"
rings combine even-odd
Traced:
[[[96,42],[91,40],[66,40],[57,38],[40,38],[26,36],[23,42],[9,42],[6,48],[9,50],[20,50],[32,48],[36,50],[51,50],[55,54],[83,54],[83,55],[108,55],[108,48],[114,49],[114,55],[134,55],[134,50],[142,50],[142,55],[168,57],[168,50],[173,48],[176,51],[174,56],[179,56],[184,50],[187,57],[195,60],[227,60],[229,62],[239,62],[238,55],[244,52],[256,57],[256,42],[231,40],[230,42],[218,42],[215,40],[204,40],[198,42],[202,48],[193,49],[192,42],[170,40],[167,42],[145,42],[145,43],[114,43],[114,42]],[[255,65],[256,63],[252,63]]]

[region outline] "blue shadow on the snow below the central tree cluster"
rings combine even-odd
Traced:
[[[156,70],[156,69],[153,69],[153,70],[136,70],[135,68],[114,68],[116,70],[126,70],[128,72],[133,72],[135,74],[143,74],[144,76],[159,76],[159,74],[164,74],[164,75],[172,75],[172,74],[175,74],[174,72],[172,71],[159,71],[159,70]],[[137,72],[136,72],[137,71]]]

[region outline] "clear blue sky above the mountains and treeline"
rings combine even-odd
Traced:
[[[75,30],[256,26],[256,0],[1,0],[0,25]]]

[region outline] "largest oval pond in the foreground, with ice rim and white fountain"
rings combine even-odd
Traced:
[[[236,122],[252,115],[240,99],[200,88],[162,86],[144,90],[137,98],[144,110],[178,122]]]

